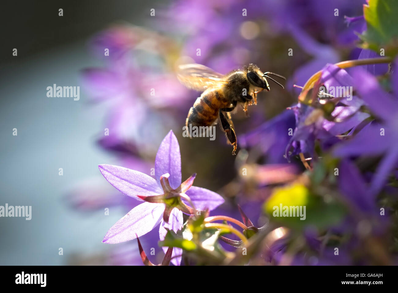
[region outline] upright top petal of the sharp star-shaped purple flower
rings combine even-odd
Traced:
[[[181,184],[181,154],[173,131],[166,135],[159,146],[155,159],[155,175],[160,180],[163,174],[170,174],[170,186],[174,189]]]

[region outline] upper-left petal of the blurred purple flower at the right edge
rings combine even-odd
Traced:
[[[369,73],[353,70],[354,85],[373,113],[384,120],[392,120],[398,113],[398,102],[380,88],[377,79]]]

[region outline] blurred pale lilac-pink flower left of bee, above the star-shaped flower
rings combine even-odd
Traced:
[[[171,92],[183,94],[184,91],[177,90],[176,83],[170,85],[168,80],[162,80],[167,86],[159,88],[156,96],[150,96],[151,88],[157,83],[155,79],[151,85],[133,65],[112,64],[111,67],[83,72],[92,99],[107,102],[109,108],[104,126],[108,133],[102,133],[98,143],[105,149],[130,154],[155,152],[158,133],[175,126],[170,115],[156,108],[178,104],[176,100],[181,96],[173,96]]]

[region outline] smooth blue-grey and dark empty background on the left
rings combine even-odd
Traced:
[[[4,7],[0,205],[32,206],[32,219],[0,218],[0,265],[68,264],[74,254],[109,249],[101,240],[124,211],[115,207],[109,216],[102,210],[82,214],[62,200],[77,182],[101,176],[99,163],[114,161],[95,143],[106,105],[88,104],[80,70],[101,65],[89,51],[89,37],[120,20],[144,23],[150,3],[26,1]],[[48,98],[46,88],[54,83],[80,86],[80,100]]]

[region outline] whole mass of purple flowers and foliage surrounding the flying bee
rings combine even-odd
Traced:
[[[398,59],[356,46],[367,22],[344,16],[361,15],[361,4],[176,1],[154,18],[164,34],[117,26],[95,36],[93,50],[109,48],[110,58],[84,80],[93,101],[110,105],[110,134],[98,142],[124,166],[99,168],[129,200],[99,188],[72,202],[133,207],[103,242],[137,238],[146,265],[396,263]],[[250,118],[238,111],[236,159],[220,142],[185,138],[180,153],[169,130],[180,135],[195,99],[175,77],[183,61],[219,72],[256,63],[289,77],[287,91],[274,87]],[[283,206],[306,215],[289,218]],[[145,250],[159,240],[164,258],[150,260]]]

